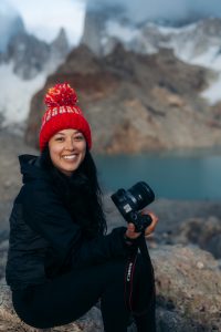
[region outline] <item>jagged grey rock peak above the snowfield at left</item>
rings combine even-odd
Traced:
[[[60,30],[51,44],[22,31],[11,37],[0,60],[12,63],[13,72],[22,80],[32,80],[41,72],[53,72],[64,61],[69,51],[64,29]]]

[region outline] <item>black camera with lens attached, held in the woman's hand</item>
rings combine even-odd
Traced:
[[[155,200],[152,189],[145,181],[137,183],[128,190],[120,188],[110,198],[125,220],[135,225],[137,232],[144,232],[151,224],[151,217],[140,211]]]

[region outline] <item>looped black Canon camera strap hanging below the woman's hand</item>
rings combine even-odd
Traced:
[[[138,249],[140,255],[138,253]],[[139,267],[137,264],[138,256],[143,259],[144,272],[147,276],[147,278],[144,278],[143,276],[140,280],[140,271],[138,271]],[[143,315],[148,311],[149,307],[155,303],[155,298],[154,269],[145,237],[140,236],[138,239],[138,246],[131,249],[131,253],[126,266],[125,302],[127,309],[133,314]]]

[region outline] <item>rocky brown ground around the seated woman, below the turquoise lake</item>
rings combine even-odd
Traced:
[[[8,248],[8,218],[13,198],[21,185],[18,155],[38,154],[38,151],[27,146],[21,137],[7,132],[0,132],[0,277],[2,278]],[[104,203],[108,228],[125,224],[108,195]],[[148,241],[156,269],[158,331],[221,331],[219,330],[221,203],[159,199],[151,204],[150,209],[159,216],[157,230]],[[210,253],[200,251],[199,247]],[[203,282],[198,283],[201,279]],[[171,283],[170,280],[173,282]],[[1,289],[1,303],[3,303],[2,297],[7,295]],[[0,330],[29,331],[15,319],[12,320],[11,311],[6,310],[1,303]],[[92,323],[94,318],[91,314],[77,325],[64,326],[63,330],[57,328],[53,331],[102,331],[101,313],[96,314],[95,321],[97,320],[98,324],[96,328]],[[208,314],[212,318],[212,323],[209,325]]]

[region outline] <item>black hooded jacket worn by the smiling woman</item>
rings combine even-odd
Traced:
[[[87,239],[54,190],[39,157],[19,157],[23,186],[10,217],[6,278],[11,289],[43,283],[71,269],[125,257],[125,227]]]

